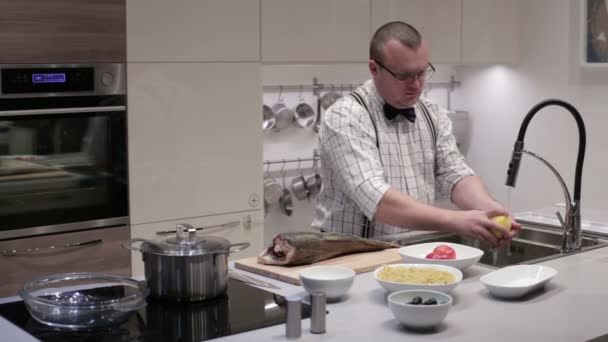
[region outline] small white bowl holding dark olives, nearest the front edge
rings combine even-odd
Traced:
[[[416,296],[423,301],[433,297],[437,304],[408,304]],[[429,329],[441,323],[448,315],[452,297],[437,291],[404,290],[391,293],[388,296],[388,306],[395,318],[407,328]]]

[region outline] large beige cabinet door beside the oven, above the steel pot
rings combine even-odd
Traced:
[[[261,207],[258,63],[129,63],[131,224]]]

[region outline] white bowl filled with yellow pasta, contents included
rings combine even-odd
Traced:
[[[462,272],[445,265],[392,264],[378,267],[374,278],[388,292],[432,290],[449,293],[462,281]]]

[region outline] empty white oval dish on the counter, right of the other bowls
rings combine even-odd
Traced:
[[[488,273],[479,280],[499,298],[518,298],[545,286],[557,271],[541,265],[514,265]]]

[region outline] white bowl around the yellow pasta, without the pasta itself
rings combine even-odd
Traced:
[[[378,274],[383,267],[416,267],[416,268],[432,268],[436,270],[442,270],[450,272],[454,276],[454,282],[450,284],[413,284],[413,283],[399,283],[394,281],[387,281],[378,278]],[[431,290],[443,293],[449,293],[456,285],[462,281],[462,272],[459,269],[445,266],[445,265],[431,265],[431,264],[392,264],[380,266],[374,271],[374,278],[388,292],[402,291],[402,290]]]

